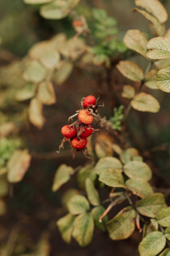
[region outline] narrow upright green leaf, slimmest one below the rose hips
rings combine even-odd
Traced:
[[[99,205],[100,199],[99,199],[98,191],[96,190],[96,188],[95,188],[92,180],[90,180],[90,178],[87,178],[85,180],[85,190],[86,190],[87,198],[88,198],[89,202],[94,206]]]

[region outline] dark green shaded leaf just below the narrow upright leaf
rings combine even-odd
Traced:
[[[97,206],[97,207],[94,207],[91,211],[92,213],[92,216],[94,218],[94,225],[96,227],[98,227],[98,229],[100,229],[101,231],[105,231],[106,230],[106,223],[108,222],[108,218],[107,218],[107,215],[105,215],[103,218],[102,218],[102,222],[99,222],[99,218],[100,216],[105,212],[105,208],[100,205],[100,206]]]

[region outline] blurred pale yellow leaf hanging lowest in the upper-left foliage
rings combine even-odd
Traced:
[[[45,118],[42,115],[42,108],[43,108],[43,105],[36,98],[31,100],[28,108],[29,120],[31,124],[36,126],[38,129],[41,129],[45,123]]]

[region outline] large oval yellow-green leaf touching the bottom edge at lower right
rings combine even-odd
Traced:
[[[139,243],[140,256],[156,256],[166,245],[166,237],[161,231],[153,231]]]

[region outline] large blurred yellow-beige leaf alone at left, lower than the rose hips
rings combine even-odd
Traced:
[[[7,179],[11,183],[20,182],[30,166],[28,150],[15,150],[7,164]]]

